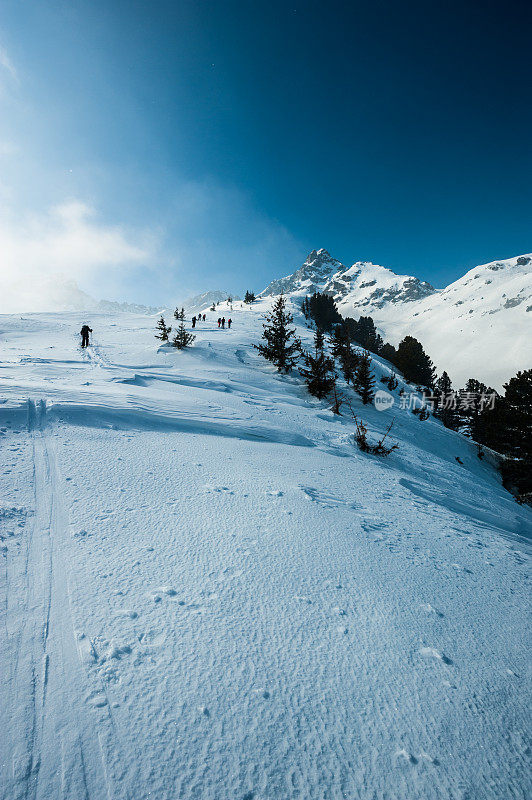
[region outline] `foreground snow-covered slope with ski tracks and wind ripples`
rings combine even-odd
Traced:
[[[0,317],[3,800],[531,796],[530,510],[401,385],[358,451],[269,302]]]

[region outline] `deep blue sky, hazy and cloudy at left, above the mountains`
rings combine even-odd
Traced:
[[[158,303],[529,252],[527,5],[4,0],[0,269]]]

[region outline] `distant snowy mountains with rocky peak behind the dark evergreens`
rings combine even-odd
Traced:
[[[263,295],[281,289],[294,298],[326,292],[344,316],[371,316],[393,345],[415,336],[457,388],[475,377],[500,390],[518,370],[530,368],[532,255],[475,267],[439,291],[370,262],[346,268],[326,250],[314,250],[303,267]]]

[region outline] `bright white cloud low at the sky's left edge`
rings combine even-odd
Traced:
[[[0,312],[51,310],[57,283],[98,285],[151,260],[154,239],[102,223],[79,200],[23,219],[0,215]],[[61,278],[58,279],[57,276]]]

